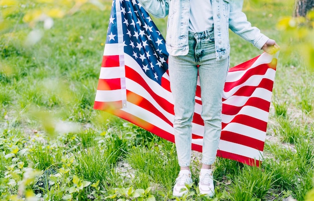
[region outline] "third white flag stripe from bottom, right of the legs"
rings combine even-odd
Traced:
[[[222,114],[222,116],[221,116],[222,122],[223,123],[229,123],[235,118],[235,116],[241,115],[241,114],[251,116],[255,119],[259,119],[259,120],[262,120],[265,122],[268,121],[268,112],[261,110],[259,108],[256,108],[256,107],[244,106],[241,108],[241,110],[236,115]]]

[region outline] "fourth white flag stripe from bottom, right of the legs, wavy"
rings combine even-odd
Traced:
[[[271,101],[271,91],[268,91],[267,89],[264,88],[257,88],[255,91],[252,93],[251,96],[228,96],[229,98],[224,100],[222,103],[227,104],[227,105],[233,105],[236,107],[241,107],[245,105],[245,103],[248,101],[249,98],[260,98],[265,101],[270,102]]]

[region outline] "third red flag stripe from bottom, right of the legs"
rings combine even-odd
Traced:
[[[256,129],[264,131],[264,132],[266,132],[266,128],[267,128],[267,122],[262,121],[260,119],[256,119],[256,118],[251,117],[251,116],[244,115],[244,114],[239,114],[239,115],[235,116],[231,122],[247,125],[247,126],[256,128]],[[229,122],[229,123],[231,123],[231,122]],[[224,129],[226,127],[226,125],[228,125],[229,123],[222,123],[222,129]]]

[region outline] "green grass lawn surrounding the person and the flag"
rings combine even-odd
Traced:
[[[147,189],[145,199],[175,200],[175,145],[92,108],[111,7],[101,2],[105,10],[85,5],[49,30],[38,23],[44,35],[32,47],[25,46],[32,28],[22,12],[0,22],[0,199],[12,200],[20,190],[33,200],[31,189],[44,200],[136,200],[125,190]],[[217,158],[216,195],[201,197],[197,154],[190,194],[176,200],[306,200],[314,176],[313,72],[294,49],[302,40],[277,29],[292,6],[291,0],[245,1],[243,9],[281,46],[261,166]],[[153,21],[166,36],[167,19]],[[233,33],[230,43],[231,66],[261,54]],[[50,185],[40,188],[40,181]],[[90,183],[80,187],[83,182]]]

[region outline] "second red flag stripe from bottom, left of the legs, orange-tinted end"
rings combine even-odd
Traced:
[[[159,111],[153,104],[151,104],[148,100],[144,99],[143,97],[139,96],[138,94],[135,94],[131,91],[126,90],[126,99],[128,102],[133,103],[134,105],[137,105],[156,116],[163,119],[166,123],[173,126],[173,123],[161,112]]]

